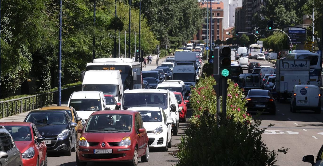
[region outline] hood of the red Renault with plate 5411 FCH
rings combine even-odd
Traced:
[[[94,140],[115,140],[116,142],[121,141],[122,138],[127,137],[131,134],[131,132],[102,132],[102,133],[93,133],[93,132],[85,132],[82,133],[81,137],[85,137],[87,141],[93,142]],[[91,141],[93,140],[93,141]],[[113,141],[114,142],[114,141]]]

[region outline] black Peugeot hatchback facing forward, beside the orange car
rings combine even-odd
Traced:
[[[71,122],[65,110],[36,110],[26,116],[24,122],[36,125],[40,135],[45,137],[47,151],[65,152],[70,156],[76,151],[77,123]]]

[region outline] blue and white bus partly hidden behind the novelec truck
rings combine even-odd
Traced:
[[[311,85],[321,85],[321,55],[311,53],[308,50],[293,50],[287,55],[288,59],[307,59],[309,60],[309,81]]]

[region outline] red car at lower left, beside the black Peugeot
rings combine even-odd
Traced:
[[[34,123],[0,122],[11,134],[21,152],[23,165],[47,165],[45,137],[41,137]]]

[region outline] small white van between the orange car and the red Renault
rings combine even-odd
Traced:
[[[110,110],[106,107],[103,92],[98,91],[73,92],[68,99],[67,106],[75,108],[78,117],[82,118],[83,127],[93,112]]]

